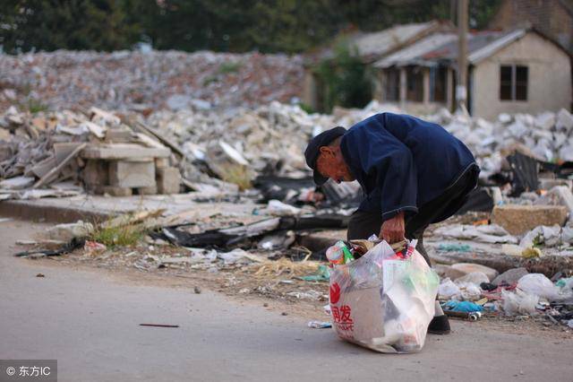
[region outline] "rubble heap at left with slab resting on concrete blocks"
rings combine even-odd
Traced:
[[[10,108],[0,117],[0,134],[0,200],[77,195],[83,188],[109,195],[180,190],[171,151],[102,109],[32,116]]]

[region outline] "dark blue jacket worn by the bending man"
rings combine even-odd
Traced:
[[[443,127],[392,113],[350,127],[340,148],[367,195],[360,209],[380,211],[382,221],[401,211],[417,213],[475,166],[466,145]]]

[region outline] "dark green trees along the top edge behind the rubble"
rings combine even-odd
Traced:
[[[343,30],[451,20],[451,0],[2,0],[0,45],[30,50],[131,48],[303,52]],[[470,1],[487,25],[500,0]]]

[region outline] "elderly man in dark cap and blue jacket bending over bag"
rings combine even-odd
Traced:
[[[416,249],[428,265],[423,231],[456,213],[479,175],[472,153],[443,127],[392,113],[325,131],[312,138],[304,156],[317,185],[331,178],[363,187],[367,196],[350,218],[347,239],[418,239]],[[429,330],[449,333],[436,305]]]

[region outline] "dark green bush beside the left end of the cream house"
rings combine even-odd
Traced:
[[[336,105],[363,108],[372,100],[372,74],[346,39],[338,41],[334,57],[322,60],[315,74],[324,89],[322,111]]]

